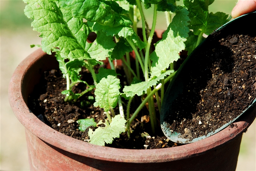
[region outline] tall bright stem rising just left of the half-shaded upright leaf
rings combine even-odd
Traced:
[[[154,6],[154,16],[153,16],[153,22],[152,22],[152,27],[150,34],[148,36],[148,43],[146,46],[146,54],[145,54],[145,70],[144,70],[144,76],[145,76],[145,81],[148,82],[148,58],[149,58],[149,49],[151,45],[151,41],[155,32],[155,27],[156,27],[156,15],[157,15],[157,5],[155,4]]]

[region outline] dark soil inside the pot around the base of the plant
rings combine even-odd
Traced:
[[[103,65],[102,67],[105,66]],[[96,66],[96,74],[98,69],[99,66]],[[124,87],[127,84],[127,80],[122,67],[117,66],[116,71],[119,74],[118,78],[122,84],[121,87]],[[89,85],[93,85],[92,76],[86,68],[82,68],[80,74],[82,75],[81,80],[86,81]],[[62,95],[61,92],[66,89],[66,86],[66,79],[63,78],[60,70],[45,71],[40,83],[36,85],[33,93],[28,98],[29,109],[53,129],[67,136],[88,142],[89,128],[92,128],[93,131],[95,128],[90,126],[82,132],[78,129],[76,121],[93,118],[98,123],[100,120],[107,119],[106,113],[103,109],[93,106],[94,100],[88,100],[89,96],[95,97],[94,90],[84,94],[75,103],[64,102],[65,95]],[[81,93],[84,89],[88,89],[88,87],[80,82],[73,87],[72,91],[74,93]],[[125,99],[122,100],[126,103]],[[141,103],[139,103],[140,100],[139,97],[134,98],[131,104],[131,111],[136,110]],[[126,109],[125,103],[123,104],[124,109]],[[114,110],[116,114],[119,114],[118,107]],[[158,111],[156,112],[158,113]],[[100,126],[103,126],[103,124]],[[137,118],[133,120],[131,132],[130,138],[127,133],[122,133],[119,138],[114,139],[112,144],[105,144],[105,146],[124,149],[157,149],[179,145],[169,141],[164,136],[160,123],[156,135],[152,134],[147,107],[144,107]]]

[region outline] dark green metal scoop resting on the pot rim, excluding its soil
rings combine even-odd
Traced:
[[[170,116],[175,115],[174,111],[172,110],[173,107],[175,107],[175,100],[179,98],[180,96],[183,96],[186,94],[184,91],[186,90],[186,86],[191,82],[191,78],[188,76],[190,74],[198,75],[198,79],[207,79],[209,80],[209,75],[211,73],[207,73],[207,66],[211,65],[206,57],[200,56],[200,51],[202,49],[210,49],[210,47],[217,43],[218,40],[221,38],[227,37],[228,35],[238,34],[238,35],[251,35],[256,36],[256,27],[254,26],[256,19],[256,12],[252,12],[243,16],[240,16],[236,19],[233,19],[232,21],[229,21],[222,27],[218,28],[216,31],[214,31],[211,35],[209,35],[200,45],[196,47],[196,49],[188,56],[188,58],[183,62],[183,64],[178,69],[177,73],[173,77],[172,81],[170,82],[161,107],[161,113],[160,113],[160,123],[161,128],[164,132],[164,135],[169,138],[171,141],[176,143],[193,143],[198,140],[202,140],[204,138],[207,138],[209,136],[212,136],[213,134],[216,134],[220,130],[228,127],[232,122],[234,122],[239,116],[241,116],[245,111],[247,111],[250,107],[252,107],[255,104],[256,98],[253,100],[252,104],[244,110],[239,116],[234,118],[233,120],[229,121],[228,123],[222,125],[220,128],[216,129],[213,132],[208,132],[205,136],[200,136],[197,138],[184,138],[185,136],[180,135],[180,133],[175,132],[170,129],[170,123],[169,119]],[[204,71],[205,67],[205,72]],[[198,69],[199,68],[199,69]],[[201,86],[200,88],[203,88],[207,83],[205,82],[204,85],[198,85]],[[196,92],[195,92],[196,94]],[[198,94],[198,93],[197,93]],[[200,97],[193,97],[193,98],[200,98]],[[193,100],[193,99],[191,99]],[[195,99],[194,99],[195,100]],[[198,100],[199,101],[199,100]],[[183,106],[186,109],[193,108],[194,106]],[[173,120],[172,120],[173,121]]]

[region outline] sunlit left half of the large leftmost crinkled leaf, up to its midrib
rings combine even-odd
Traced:
[[[69,59],[90,59],[89,54],[78,43],[68,28],[63,15],[55,2],[29,0],[25,7],[25,15],[33,19],[31,26],[41,33],[42,50],[51,54],[52,47],[60,48]]]

